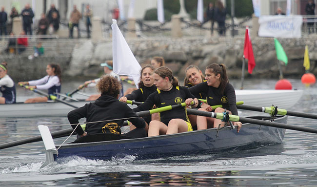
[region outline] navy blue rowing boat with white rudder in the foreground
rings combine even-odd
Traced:
[[[269,120],[268,117],[249,117]],[[287,123],[287,116],[276,117],[275,122]],[[285,129],[246,123],[240,132],[226,126],[195,130],[170,135],[160,135],[136,139],[120,139],[90,143],[70,143],[55,145],[47,126],[39,125],[46,149],[43,166],[66,157],[79,156],[91,160],[109,160],[131,155],[137,159],[153,159],[177,155],[215,153],[232,149],[248,149],[257,146],[280,144]],[[125,138],[125,137],[123,137]],[[118,140],[119,139],[119,140]],[[57,148],[59,149],[57,150]]]

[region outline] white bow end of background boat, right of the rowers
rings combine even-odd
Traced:
[[[253,106],[278,106],[289,109],[295,105],[303,90],[236,90],[237,101]]]

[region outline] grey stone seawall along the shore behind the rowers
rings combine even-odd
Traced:
[[[317,36],[310,35],[301,39],[278,39],[288,56],[288,65],[282,65],[285,78],[300,78],[305,73],[303,64],[304,48],[310,51],[311,72],[317,73]],[[64,39],[58,39],[62,40]],[[45,40],[47,46],[44,56],[28,60],[28,53],[16,55],[1,54],[0,60],[9,64],[9,75],[15,80],[38,79],[45,75],[45,66],[57,62],[62,66],[63,77],[67,79],[90,79],[102,75],[100,63],[112,59],[112,42],[105,40],[93,43],[87,39],[67,40],[67,44],[50,46],[52,41]],[[204,72],[205,67],[213,62],[224,63],[230,78],[241,77],[244,38],[149,38],[127,39],[132,52],[140,64],[149,63],[154,56],[162,56],[166,66],[170,67],[179,78],[190,64],[196,64]],[[247,78],[278,79],[279,72],[273,38],[252,39],[256,67]],[[68,51],[68,52],[67,52]],[[247,67],[247,64],[246,64]]]

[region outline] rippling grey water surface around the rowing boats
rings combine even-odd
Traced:
[[[291,111],[316,113],[317,87],[305,88],[300,80],[290,80],[293,88],[305,89]],[[240,82],[231,83],[239,88]],[[276,81],[247,80],[245,89],[273,89]],[[62,92],[79,83],[65,83]],[[93,93],[93,89],[86,92]],[[20,100],[34,97],[18,89]],[[82,96],[84,97],[84,96]],[[3,106],[2,106],[3,107]],[[241,115],[252,115],[242,111]],[[259,113],[255,113],[259,114]],[[316,120],[289,117],[288,124],[316,128]],[[0,118],[0,144],[38,136],[38,125],[68,124],[66,117]],[[50,127],[51,131],[69,126]],[[69,141],[74,140],[71,137]],[[64,138],[54,139],[61,144]],[[317,143],[312,133],[286,130],[283,144],[218,154],[136,160],[130,156],[110,161],[79,157],[40,169],[45,161],[42,142],[0,150],[1,187],[43,186],[317,186]]]

